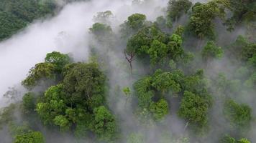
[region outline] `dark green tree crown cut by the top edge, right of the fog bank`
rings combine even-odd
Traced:
[[[191,6],[192,2],[189,0],[168,1],[168,19],[171,19],[172,21],[178,20],[182,14],[186,14],[188,12]]]

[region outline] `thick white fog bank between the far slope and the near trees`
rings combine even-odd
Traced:
[[[129,0],[75,2],[66,5],[57,16],[34,21],[26,29],[0,43],[0,95],[7,92],[8,87],[19,85],[29,69],[42,62],[51,51],[72,54],[76,61],[86,60],[88,29],[97,12],[112,11],[118,19],[114,23],[117,26],[136,12],[146,14],[148,19],[154,19],[156,13],[152,8],[166,6],[167,1],[152,3],[154,6],[147,9],[135,9]]]

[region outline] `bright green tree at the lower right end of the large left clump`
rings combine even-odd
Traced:
[[[114,115],[104,106],[95,108],[93,113],[92,131],[96,133],[100,141],[114,142],[117,134]]]

